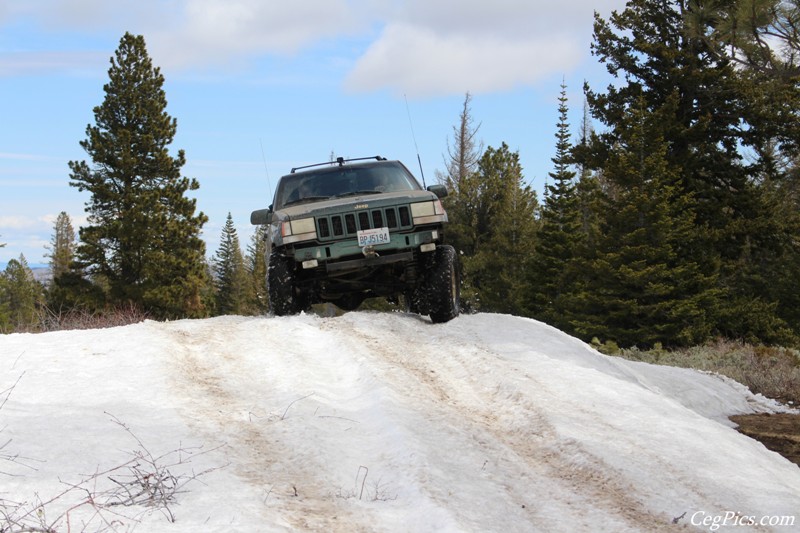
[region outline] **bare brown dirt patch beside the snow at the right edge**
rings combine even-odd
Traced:
[[[736,415],[731,421],[739,424],[740,433],[761,442],[800,466],[800,415],[778,413]]]

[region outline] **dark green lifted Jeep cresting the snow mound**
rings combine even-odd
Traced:
[[[456,253],[442,244],[446,195],[380,156],[292,169],[273,204],[250,216],[268,225],[270,311],[295,314],[319,302],[350,311],[365,298],[403,296],[433,322],[455,318]]]

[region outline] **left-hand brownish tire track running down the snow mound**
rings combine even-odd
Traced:
[[[244,324],[259,327],[260,321]],[[369,531],[331,497],[330,487],[314,483],[323,465],[307,456],[302,464],[287,457],[292,450],[281,441],[285,434],[280,427],[282,418],[274,414],[262,416],[260,408],[232,386],[237,383],[263,387],[266,383],[257,383],[240,367],[235,350],[241,322],[215,328],[211,336],[199,335],[192,325],[178,322],[170,329],[183,348],[176,354],[181,369],[177,383],[193,399],[188,418],[210,438],[224,440],[236,474],[262,488],[260,503],[265,520],[270,524],[275,524],[276,519],[284,521],[287,531]],[[257,391],[249,392],[258,395]],[[262,392],[266,395],[271,391]]]

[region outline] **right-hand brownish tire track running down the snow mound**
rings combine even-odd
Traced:
[[[361,321],[348,321],[345,317],[341,319],[342,323],[337,324],[336,330],[342,332],[341,326],[346,323],[349,327],[343,335],[343,342],[356,338],[357,343],[373,347],[372,353],[376,358],[404,369],[407,377],[399,390],[408,391],[409,396],[427,393],[435,407],[444,410],[444,418],[460,420],[467,431],[483,435],[484,438],[478,442],[487,452],[502,455],[510,450],[515,459],[530,471],[529,479],[545,476],[555,480],[567,489],[568,499],[572,493],[576,502],[588,502],[601,512],[618,517],[631,531],[643,526],[649,531],[672,530],[668,525],[671,517],[650,512],[635,497],[636,490],[624,475],[582,449],[573,439],[560,437],[522,387],[515,383],[511,390],[503,390],[502,384],[497,384],[492,391],[480,386],[480,381],[486,376],[517,374],[513,362],[496,357],[484,346],[470,345],[462,339],[446,336],[442,331],[446,326],[419,323],[413,316],[389,315],[379,321],[385,322],[385,327],[376,328],[375,324],[364,327]],[[330,325],[325,327],[332,328]],[[382,334],[375,333],[390,327],[396,334],[391,337],[391,342],[386,342]],[[426,332],[425,328],[431,328],[431,331]],[[396,342],[398,338],[419,338],[420,333],[423,339],[426,334],[439,334],[445,337],[442,340],[452,349],[448,353],[432,354],[425,348],[424,340],[406,344]],[[478,380],[465,391],[464,384],[469,377],[478,377]],[[522,376],[521,380],[527,381],[528,386],[535,383],[530,376]],[[504,381],[509,383],[513,380]],[[521,420],[504,423],[503,419],[513,411]],[[581,512],[580,506],[571,507],[569,501],[564,503],[573,513]],[[590,516],[586,518],[587,527],[591,527]]]

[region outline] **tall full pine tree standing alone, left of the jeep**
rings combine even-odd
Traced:
[[[166,112],[164,77],[144,38],[126,33],[111,58],[105,99],[81,147],[93,161],[71,161],[70,184],[91,194],[77,255],[112,304],[132,303],[155,317],[203,316],[206,283],[203,213],[194,179],[180,175],[183,150],[168,147],[177,121]]]

